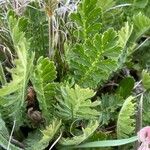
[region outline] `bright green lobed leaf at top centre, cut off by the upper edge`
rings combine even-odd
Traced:
[[[83,0],[76,13],[71,14],[71,20],[78,26],[74,35],[80,40],[94,36],[101,29],[101,9],[97,0]]]

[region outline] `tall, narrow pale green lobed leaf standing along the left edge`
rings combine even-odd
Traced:
[[[0,89],[0,98],[4,99],[2,107],[7,110],[7,116],[15,119],[19,126],[23,123],[27,84],[33,69],[34,53],[29,55],[30,42],[23,31],[26,22],[24,17],[17,19],[11,11],[7,17],[17,57],[12,62],[13,67],[8,69],[12,80]]]

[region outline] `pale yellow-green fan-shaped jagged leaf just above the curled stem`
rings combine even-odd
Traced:
[[[74,88],[69,86],[61,86],[61,97],[56,105],[57,114],[64,120],[75,119],[93,119],[99,116],[99,112],[95,109],[100,105],[99,101],[92,102],[90,99],[95,92],[89,88],[81,88],[75,85]]]

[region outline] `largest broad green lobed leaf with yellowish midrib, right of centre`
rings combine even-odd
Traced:
[[[69,66],[75,81],[82,87],[97,88],[119,68],[122,52],[117,32],[112,28],[83,44],[76,44],[69,54]]]

